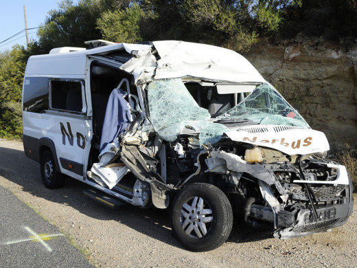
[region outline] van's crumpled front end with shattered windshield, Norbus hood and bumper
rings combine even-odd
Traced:
[[[325,134],[310,129],[271,85],[257,85],[214,119],[189,97],[181,80],[148,86],[155,131],[170,141],[179,165],[196,161],[198,167],[178,188],[206,175],[247,224],[279,238],[347,221],[353,198],[345,166],[325,157]]]

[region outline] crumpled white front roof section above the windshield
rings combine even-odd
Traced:
[[[155,79],[194,77],[231,82],[265,82],[246,58],[230,49],[183,41],[156,41]]]

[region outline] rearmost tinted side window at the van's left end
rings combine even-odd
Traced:
[[[26,77],[23,81],[23,111],[43,113],[48,109],[48,82],[45,77]]]

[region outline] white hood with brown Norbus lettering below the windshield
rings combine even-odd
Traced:
[[[243,126],[225,133],[235,142],[280,150],[288,155],[308,155],[330,150],[325,134],[294,126]]]

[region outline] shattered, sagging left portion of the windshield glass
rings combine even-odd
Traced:
[[[151,82],[148,102],[152,125],[168,142],[174,142],[184,128],[200,133],[200,146],[218,142],[227,131],[222,124],[207,122],[210,113],[198,106],[179,78]]]

